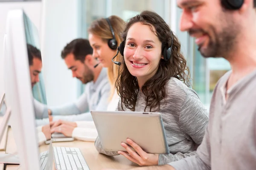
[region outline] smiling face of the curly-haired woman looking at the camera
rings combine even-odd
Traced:
[[[150,26],[134,23],[125,42],[125,64],[131,75],[145,82],[157,72],[162,56],[162,43]]]

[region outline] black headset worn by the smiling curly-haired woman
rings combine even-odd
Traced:
[[[171,31],[171,35],[172,35],[172,44],[173,44],[173,33]],[[171,47],[168,48],[168,47],[164,47],[163,48],[163,59],[165,61],[169,61],[169,59],[171,58],[172,56],[172,44],[171,44]],[[112,62],[115,63],[116,65],[121,65],[121,62],[118,62],[118,61],[113,61],[113,59],[117,56],[117,54],[120,52],[120,54],[122,56],[124,56],[124,49],[125,49],[125,41],[122,41],[121,44],[119,45],[119,47],[117,48],[117,53],[116,55],[112,58]]]

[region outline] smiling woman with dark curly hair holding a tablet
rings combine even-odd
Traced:
[[[169,155],[146,153],[127,140],[127,152],[102,149],[106,155],[122,154],[139,165],[162,165],[195,154],[208,123],[207,110],[189,85],[189,69],[180,51],[180,42],[158,14],[143,11],[132,17],[122,34],[122,67],[116,80],[121,97],[119,111],[159,112],[163,119]]]

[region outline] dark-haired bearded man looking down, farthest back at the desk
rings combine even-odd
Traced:
[[[76,102],[50,108],[53,121],[92,120],[90,111],[107,110],[110,95],[107,71],[102,65],[94,67],[98,62],[92,54],[89,41],[81,38],[71,41],[62,50],[61,57],[72,71],[73,77],[86,85],[84,93]]]

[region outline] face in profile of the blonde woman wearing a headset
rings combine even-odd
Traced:
[[[116,55],[116,50],[112,50],[108,46],[108,42],[104,42],[101,37],[95,34],[89,34],[89,42],[93,48],[93,57],[97,58],[103,67],[113,65],[111,59]]]

